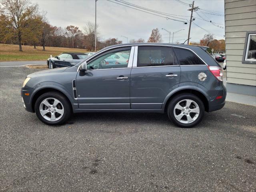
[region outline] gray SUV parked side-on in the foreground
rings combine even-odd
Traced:
[[[75,66],[28,75],[22,102],[48,125],[79,112],[158,112],[189,128],[204,111],[225,104],[222,67],[206,49],[162,43],[109,46]]]

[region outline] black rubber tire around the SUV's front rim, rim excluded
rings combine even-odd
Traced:
[[[61,104],[63,105],[64,108],[64,113],[63,116],[56,121],[49,121],[46,120],[40,113],[40,104],[43,100],[45,100],[46,98],[55,98],[57,100],[59,100],[61,102]],[[58,92],[46,92],[44,94],[42,94],[35,103],[35,112],[37,117],[45,124],[47,125],[60,125],[60,124],[64,124],[71,116],[72,114],[72,108],[70,105],[69,100],[61,93]]]

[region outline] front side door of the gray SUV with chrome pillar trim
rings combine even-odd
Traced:
[[[106,58],[116,52],[129,52],[124,65],[107,64]],[[117,48],[96,56],[87,63],[86,72],[78,72],[76,90],[78,106],[87,110],[130,109],[130,72],[134,47]]]

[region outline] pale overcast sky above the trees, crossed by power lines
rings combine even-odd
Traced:
[[[176,16],[179,18],[190,19],[191,12],[188,11],[189,6],[186,4],[192,3],[191,0],[180,0],[182,3],[176,0],[125,1],[158,12],[181,15]],[[68,25],[74,25],[82,29],[87,21],[95,22],[95,0],[32,0],[32,3],[38,3],[40,10],[47,11],[47,18],[53,26],[66,28]],[[208,11],[208,13],[213,14],[198,13],[205,20],[224,24],[224,16],[214,15],[214,13],[224,14],[224,0],[195,0],[195,6],[212,11]],[[202,12],[202,10],[199,11]],[[196,17],[194,23],[215,34],[214,37],[216,39],[223,39],[224,25],[219,25],[218,27],[218,24],[200,20],[198,19],[200,18],[198,14],[193,13],[193,16]],[[168,17],[173,18],[171,16]],[[181,20],[179,18],[173,19]],[[186,20],[184,21],[186,22]],[[143,38],[147,41],[153,28],[160,30],[163,42],[169,42],[169,34],[162,28],[171,32],[184,29],[174,34],[174,42],[177,40],[184,42],[188,37],[189,28],[189,23],[184,24],[171,19],[167,20],[166,18],[134,10],[107,0],[97,1],[97,24],[100,26],[100,33],[103,39],[115,37],[124,43],[126,43],[126,39],[121,36],[127,36],[128,40]],[[190,41],[192,42],[198,42],[203,38],[204,34],[208,34],[198,26],[194,24],[191,26]],[[170,41],[172,42],[172,34]]]

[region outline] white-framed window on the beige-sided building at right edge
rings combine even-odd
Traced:
[[[247,32],[243,63],[256,64],[256,33]]]

